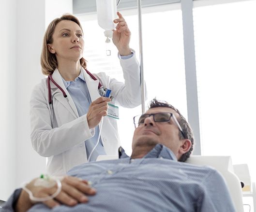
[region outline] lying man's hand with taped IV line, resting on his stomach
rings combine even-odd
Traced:
[[[37,179],[34,179],[26,185],[34,197],[44,198],[56,192],[57,185],[50,188],[35,186],[34,182],[36,180]],[[88,197],[86,195],[96,194],[96,190],[91,188],[87,181],[76,177],[65,176],[61,180],[61,185],[59,195],[53,199],[43,202],[49,208],[54,208],[60,205],[60,203],[68,206],[75,206],[78,202],[88,202]],[[36,203],[37,202],[34,202],[29,198],[29,194],[25,190],[22,190],[15,205],[15,212],[25,212]]]

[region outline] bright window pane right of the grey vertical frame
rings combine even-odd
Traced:
[[[256,0],[194,9],[203,155],[255,169]]]

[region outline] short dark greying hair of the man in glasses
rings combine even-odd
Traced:
[[[181,131],[179,132],[179,138],[182,139],[189,139],[192,143],[190,149],[188,152],[184,153],[183,155],[181,155],[181,158],[179,159],[179,161],[181,162],[185,162],[187,160],[187,158],[189,158],[189,156],[192,153],[193,150],[193,145],[194,145],[194,134],[192,131],[192,128],[190,127],[189,123],[187,122],[187,120],[183,117],[183,115],[181,115],[180,111],[178,109],[176,109],[175,107],[173,107],[172,105],[168,104],[166,101],[162,101],[162,100],[157,100],[157,99],[153,99],[150,102],[149,108],[157,108],[157,107],[167,107],[167,108],[171,108],[172,110],[174,110],[176,113],[178,113],[180,116],[178,117],[178,122],[181,125],[181,128],[183,130],[184,136],[183,137]]]

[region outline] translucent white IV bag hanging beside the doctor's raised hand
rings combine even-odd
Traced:
[[[112,38],[115,24],[113,22],[117,17],[117,1],[116,0],[96,0],[98,24],[105,29],[106,42],[110,42]]]

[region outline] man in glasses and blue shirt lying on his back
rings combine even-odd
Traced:
[[[43,203],[17,189],[2,211],[235,212],[216,170],[183,163],[192,152],[194,138],[177,109],[153,99],[150,109],[134,117],[134,123],[131,157],[119,149],[120,159],[73,168],[68,175],[74,177],[65,177],[60,193]],[[45,188],[35,186],[35,181],[26,185],[33,196],[56,192],[57,185]]]

